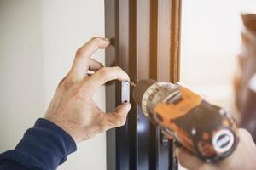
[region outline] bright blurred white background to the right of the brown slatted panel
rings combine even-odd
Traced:
[[[238,122],[232,82],[244,29],[241,14],[247,13],[256,13],[256,1],[183,0],[180,81]]]

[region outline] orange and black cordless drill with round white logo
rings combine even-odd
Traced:
[[[230,114],[188,88],[147,79],[134,87],[133,98],[168,139],[203,161],[218,161],[236,149],[238,128]]]

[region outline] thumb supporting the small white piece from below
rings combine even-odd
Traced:
[[[106,123],[108,124],[108,129],[114,127],[120,127],[125,125],[126,117],[131,109],[130,103],[125,103],[119,105],[113,112],[107,113],[105,116]],[[108,130],[107,129],[107,130]]]

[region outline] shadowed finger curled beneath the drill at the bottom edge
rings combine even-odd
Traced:
[[[179,163],[183,167],[189,168],[189,170],[200,169],[200,167],[203,165],[203,162],[199,158],[184,147],[176,148],[175,154]]]

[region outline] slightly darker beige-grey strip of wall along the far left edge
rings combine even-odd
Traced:
[[[40,6],[24,2],[0,2],[1,152],[14,148],[44,113]]]

